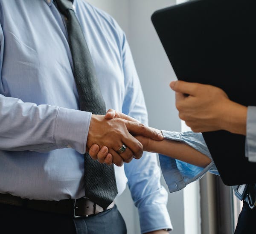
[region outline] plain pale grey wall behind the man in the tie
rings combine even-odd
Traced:
[[[159,129],[180,131],[181,124],[175,108],[175,95],[169,83],[175,80],[172,66],[151,23],[151,14],[175,0],[88,0],[110,13],[125,31],[133,53],[148,108],[149,125]],[[162,184],[166,187],[162,177]],[[116,199],[128,234],[140,234],[137,209],[128,189]],[[184,234],[183,191],[169,194],[168,210],[174,231]]]

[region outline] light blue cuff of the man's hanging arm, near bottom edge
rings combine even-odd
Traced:
[[[166,204],[146,205],[139,209],[141,233],[169,229],[172,223]]]

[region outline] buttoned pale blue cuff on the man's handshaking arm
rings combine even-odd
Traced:
[[[73,148],[84,154],[91,115],[86,111],[59,108],[54,134],[58,148]]]

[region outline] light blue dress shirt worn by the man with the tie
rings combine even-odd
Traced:
[[[75,0],[106,107],[148,124],[124,32],[105,12]],[[0,193],[29,199],[84,196],[91,113],[79,111],[64,17],[51,0],[0,0]],[[88,100],[90,101],[90,100]],[[115,167],[128,181],[141,231],[172,228],[156,154]]]

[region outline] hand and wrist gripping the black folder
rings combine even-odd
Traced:
[[[232,102],[218,87],[184,81],[173,81],[179,117],[192,131],[227,130],[246,134],[247,108]]]

